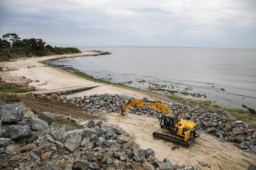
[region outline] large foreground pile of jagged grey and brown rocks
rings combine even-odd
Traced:
[[[0,102],[0,169],[137,169],[196,170],[158,161],[155,152],[140,148],[119,127],[108,127],[90,119],[84,129],[51,126],[54,115],[40,112],[37,118],[25,113],[23,103]]]

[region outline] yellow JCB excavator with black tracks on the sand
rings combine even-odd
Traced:
[[[125,109],[135,106],[155,109],[163,113],[161,119],[159,119],[159,126],[161,130],[153,132],[154,137],[162,138],[189,147],[191,142],[188,139],[197,138],[200,134],[201,126],[199,123],[191,120],[181,119],[180,116],[177,117],[176,115],[173,115],[169,108],[160,101],[151,102],[142,101],[142,99],[132,100],[130,103],[125,104],[121,108],[120,114],[117,116],[119,117],[119,120],[123,116],[128,116],[127,113],[124,113]]]

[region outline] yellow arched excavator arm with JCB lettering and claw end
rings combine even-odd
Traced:
[[[135,99],[135,100],[132,100],[130,103],[123,105],[123,107],[120,110],[120,114],[117,116],[119,117],[118,120],[120,120],[120,118],[123,116],[128,116],[128,113],[124,113],[125,109],[135,107],[135,106],[142,107],[142,108],[155,109],[155,110],[161,111],[163,115],[167,113],[172,114],[169,108],[165,104],[161,103],[160,101],[152,102],[152,101],[142,101],[142,99]]]

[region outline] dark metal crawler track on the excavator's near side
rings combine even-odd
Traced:
[[[156,138],[161,138],[161,139],[165,139],[165,140],[169,140],[173,143],[177,143],[180,144],[182,146],[185,147],[189,147],[191,142],[190,141],[184,141],[184,138],[182,138],[181,136],[177,136],[175,134],[172,134],[170,132],[165,132],[165,131],[155,131],[153,132],[153,136]]]

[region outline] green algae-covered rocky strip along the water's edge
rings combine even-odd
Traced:
[[[58,67],[59,69],[65,70],[65,71],[70,72],[70,73],[76,72],[76,73],[81,73],[81,74],[84,74],[84,75],[88,76],[86,73],[83,73],[80,70],[77,70],[72,66],[54,65],[54,63],[50,63],[50,65],[53,65],[54,67]],[[109,74],[109,76],[110,76],[110,74]],[[88,77],[93,77],[93,76],[88,76]],[[90,79],[97,79],[99,81],[104,81],[104,82],[107,82],[107,83],[110,83],[110,84],[119,85],[119,83],[113,82],[112,78],[108,78],[108,77],[106,77],[106,78],[94,78],[93,77],[93,78],[89,78],[89,80]],[[132,86],[131,84],[134,84],[134,83],[143,84],[143,85],[145,83],[146,84],[148,83],[148,84],[151,85],[151,87],[149,86],[150,88],[145,88],[145,87],[140,88],[140,86],[139,87],[138,86],[136,87],[136,85]],[[191,89],[185,88],[184,90],[181,90],[181,93],[176,94],[176,93],[173,93],[175,91],[168,90],[169,88],[167,90],[164,89],[164,88],[166,88],[166,86],[160,85],[160,84],[158,84],[158,82],[155,82],[155,81],[151,81],[151,82],[150,81],[145,81],[145,80],[140,81],[140,80],[137,79],[136,82],[135,81],[134,82],[133,81],[131,81],[131,82],[130,81],[125,81],[125,82],[121,82],[120,84],[124,85],[124,86],[127,86],[127,87],[143,90],[143,91],[146,91],[146,92],[157,93],[161,96],[165,96],[165,97],[169,98],[169,100],[172,100],[174,102],[182,103],[182,104],[185,104],[185,105],[190,105],[190,106],[193,106],[193,107],[206,108],[206,109],[209,109],[212,112],[217,112],[218,114],[222,114],[222,115],[225,114],[227,117],[229,117],[232,120],[243,120],[243,121],[246,121],[248,123],[252,122],[252,123],[256,124],[256,117],[251,116],[253,113],[251,113],[250,110],[249,110],[251,108],[232,107],[232,106],[229,106],[229,105],[221,104],[218,101],[211,101],[211,100],[207,99],[205,94],[196,94],[196,97],[199,96],[196,99],[191,99],[189,97],[186,98],[186,96],[188,94],[190,94],[190,93],[188,93],[188,90],[191,90],[192,88]],[[187,91],[185,91],[185,90],[187,90]]]

